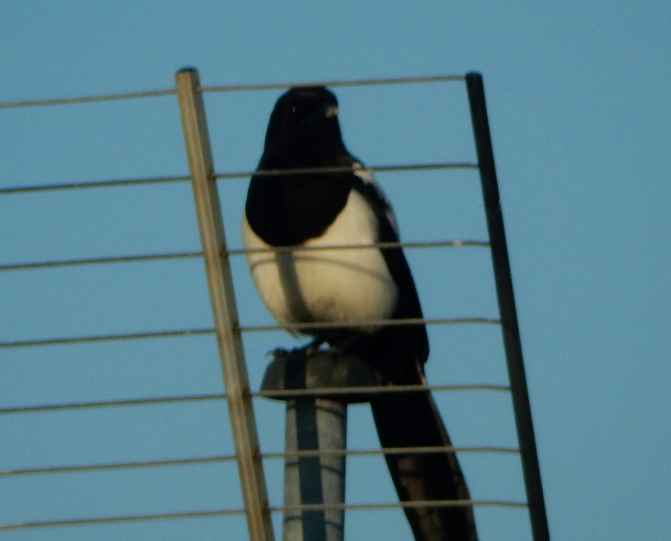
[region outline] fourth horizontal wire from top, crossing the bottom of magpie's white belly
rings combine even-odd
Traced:
[[[461,323],[489,323],[500,324],[497,318],[407,318],[407,319],[371,319],[348,322],[315,322],[315,323],[285,323],[274,325],[240,325],[238,328],[243,332],[257,332],[260,330],[301,330],[304,328],[350,328],[360,326],[403,326],[403,325],[435,325],[435,324],[461,324]],[[20,340],[11,342],[0,342],[0,349],[10,347],[33,347],[46,345],[74,344],[86,342],[104,342],[112,340],[134,340],[145,338],[164,338],[189,335],[209,335],[215,332],[214,328],[194,328],[185,330],[162,330],[155,333],[127,333],[118,335],[94,335],[72,338],[48,338],[40,340]]]

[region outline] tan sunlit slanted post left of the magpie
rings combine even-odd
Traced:
[[[274,541],[199,76],[174,78],[250,540]]]

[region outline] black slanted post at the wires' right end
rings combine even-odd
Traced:
[[[503,344],[513,395],[513,411],[515,413],[515,424],[517,425],[517,438],[519,439],[522,471],[527,490],[527,502],[529,503],[531,532],[533,532],[534,541],[550,541],[548,517],[533,434],[533,422],[531,421],[529,391],[522,359],[522,345],[517,325],[513,279],[510,272],[505,230],[503,229],[501,197],[499,196],[499,184],[494,166],[494,151],[484,101],[482,75],[479,73],[466,74],[466,88],[468,89],[470,114],[478,153],[482,197],[484,198],[484,211],[487,217],[489,243],[492,250],[499,313],[501,314],[501,327],[503,329]]]

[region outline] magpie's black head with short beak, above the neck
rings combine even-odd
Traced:
[[[272,110],[266,132],[266,152],[274,154],[272,151],[280,148],[287,158],[303,154],[303,150],[315,157],[327,149],[343,152],[335,95],[323,86],[300,86],[283,94]]]

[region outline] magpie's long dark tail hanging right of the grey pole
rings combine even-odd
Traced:
[[[452,446],[429,391],[378,394],[370,402],[380,444]],[[385,455],[401,501],[470,500],[455,453]],[[416,541],[477,541],[473,508],[405,507]]]

